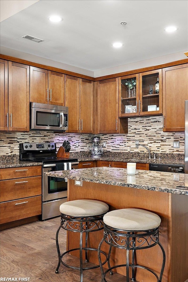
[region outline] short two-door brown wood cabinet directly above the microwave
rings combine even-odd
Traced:
[[[30,102],[64,106],[65,75],[30,66]]]

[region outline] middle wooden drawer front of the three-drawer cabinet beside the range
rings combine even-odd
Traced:
[[[0,183],[1,202],[41,195],[42,177],[2,180]]]

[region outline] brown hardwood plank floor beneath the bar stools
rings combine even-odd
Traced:
[[[56,249],[56,231],[60,218],[37,221],[1,231],[1,278],[30,278],[30,282],[79,282],[80,272],[60,265]],[[66,231],[59,233],[61,252],[66,250]],[[68,255],[69,261],[74,259]],[[78,260],[78,259],[77,259]],[[15,280],[14,280],[15,281]],[[83,282],[100,282],[100,269],[85,270]],[[114,273],[110,282],[125,282],[125,276]]]

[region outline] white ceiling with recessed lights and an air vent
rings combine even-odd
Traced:
[[[63,21],[48,21],[53,14]],[[166,33],[171,25],[178,31]],[[40,0],[0,27],[3,47],[95,72],[187,51],[188,1]],[[116,41],[123,47],[113,48]]]

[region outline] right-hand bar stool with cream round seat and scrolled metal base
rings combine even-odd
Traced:
[[[126,267],[126,281],[129,282],[129,268],[132,268],[132,281],[136,281],[136,268],[143,268],[150,271],[156,278],[157,282],[161,282],[165,265],[165,252],[159,242],[159,225],[161,219],[157,214],[148,212],[143,209],[118,209],[108,212],[103,217],[104,236],[98,247],[98,259],[102,275],[102,282],[106,281],[105,276],[108,272],[113,274],[112,270],[118,267]],[[105,241],[110,245],[108,253],[108,269],[104,272],[100,257],[100,248]],[[136,250],[148,249],[155,245],[159,245],[162,254],[163,262],[160,271],[160,276],[150,268],[136,263]],[[126,264],[110,267],[110,254],[112,247],[125,249]],[[129,251],[132,251],[132,262],[129,261]]]

